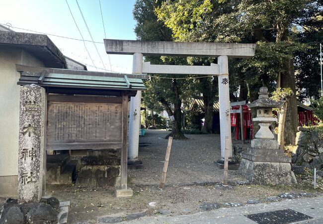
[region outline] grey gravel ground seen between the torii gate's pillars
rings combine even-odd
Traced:
[[[140,137],[139,158],[143,169],[129,170],[131,182],[135,184],[159,184],[166,154],[169,132],[147,130]],[[221,158],[220,135],[187,134],[187,140],[173,140],[166,184],[176,185],[196,181],[221,182],[223,170],[216,168],[215,161]],[[229,171],[229,180],[243,180],[238,171]]]

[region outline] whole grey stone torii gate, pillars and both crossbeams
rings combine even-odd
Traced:
[[[255,44],[104,39],[104,45],[108,54],[133,55],[133,74],[217,75],[219,80],[221,160],[224,161],[226,137],[229,138],[229,160],[232,160],[228,57],[250,58],[254,56]],[[143,62],[145,55],[218,57],[218,64],[212,63],[210,66],[151,65],[150,62]],[[128,146],[128,162],[130,164],[141,164],[138,158],[140,120],[139,115],[136,117],[136,114],[140,112],[140,104],[141,91],[138,91],[135,97],[131,97],[130,102]]]

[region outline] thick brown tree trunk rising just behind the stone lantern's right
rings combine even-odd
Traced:
[[[280,86],[281,88],[291,88],[294,92],[293,96],[288,102],[285,121],[285,144],[295,144],[297,126],[298,126],[298,112],[297,112],[297,99],[296,99],[296,86],[294,75],[293,59],[289,58],[285,62],[287,68],[286,72],[281,72]]]

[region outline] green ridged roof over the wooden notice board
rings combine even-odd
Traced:
[[[42,87],[61,87],[96,90],[146,90],[145,74],[123,74],[82,70],[38,68],[16,65],[20,72],[18,85],[36,84]]]

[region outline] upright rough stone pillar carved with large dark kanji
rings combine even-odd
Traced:
[[[18,203],[39,203],[42,197],[45,89],[20,87]]]

